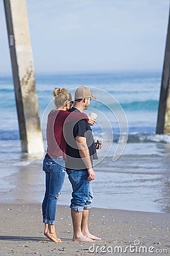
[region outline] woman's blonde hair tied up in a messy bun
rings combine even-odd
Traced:
[[[53,91],[54,104],[57,108],[63,107],[67,101],[72,101],[71,93],[65,88],[55,88]]]

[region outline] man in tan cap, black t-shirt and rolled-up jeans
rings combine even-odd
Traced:
[[[91,90],[81,86],[75,91],[75,102],[70,111],[82,112],[94,99]],[[102,145],[94,143],[91,127],[83,119],[76,123],[67,123],[66,141],[66,171],[73,188],[70,205],[74,229],[73,241],[101,240],[89,232],[88,218],[93,198],[91,181],[95,179],[92,159],[96,154],[96,148],[100,149]]]

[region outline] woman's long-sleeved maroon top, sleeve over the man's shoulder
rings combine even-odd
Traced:
[[[63,136],[63,125],[67,122],[79,121],[88,117],[84,113],[67,112],[65,110],[52,110],[48,114],[46,125],[47,150],[45,157],[63,156],[66,159],[67,143]]]

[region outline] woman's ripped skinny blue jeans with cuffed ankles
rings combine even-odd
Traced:
[[[45,171],[45,196],[42,202],[43,222],[54,225],[56,206],[65,179],[65,159],[44,158],[42,170]]]

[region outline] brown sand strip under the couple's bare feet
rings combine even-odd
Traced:
[[[101,241],[94,243],[71,241],[73,227],[70,208],[66,206],[57,206],[56,230],[58,237],[63,240],[61,243],[49,241],[44,236],[40,204],[1,204],[0,219],[0,255],[2,256],[170,255],[169,213],[92,208],[90,231],[102,238]],[[135,242],[136,246],[128,248],[127,253],[121,251],[126,250],[126,246],[134,246],[135,240],[138,240],[141,245],[137,246],[138,242]],[[99,246],[98,249],[97,246]],[[101,248],[101,246],[104,247]],[[122,249],[120,248],[118,252],[116,246],[121,246]],[[140,249],[140,246],[145,248]],[[89,250],[90,247],[92,252]],[[134,253],[133,250],[135,250]],[[138,253],[139,250],[141,253]],[[159,250],[159,253],[156,253],[156,250]],[[163,250],[165,250],[164,253]]]

